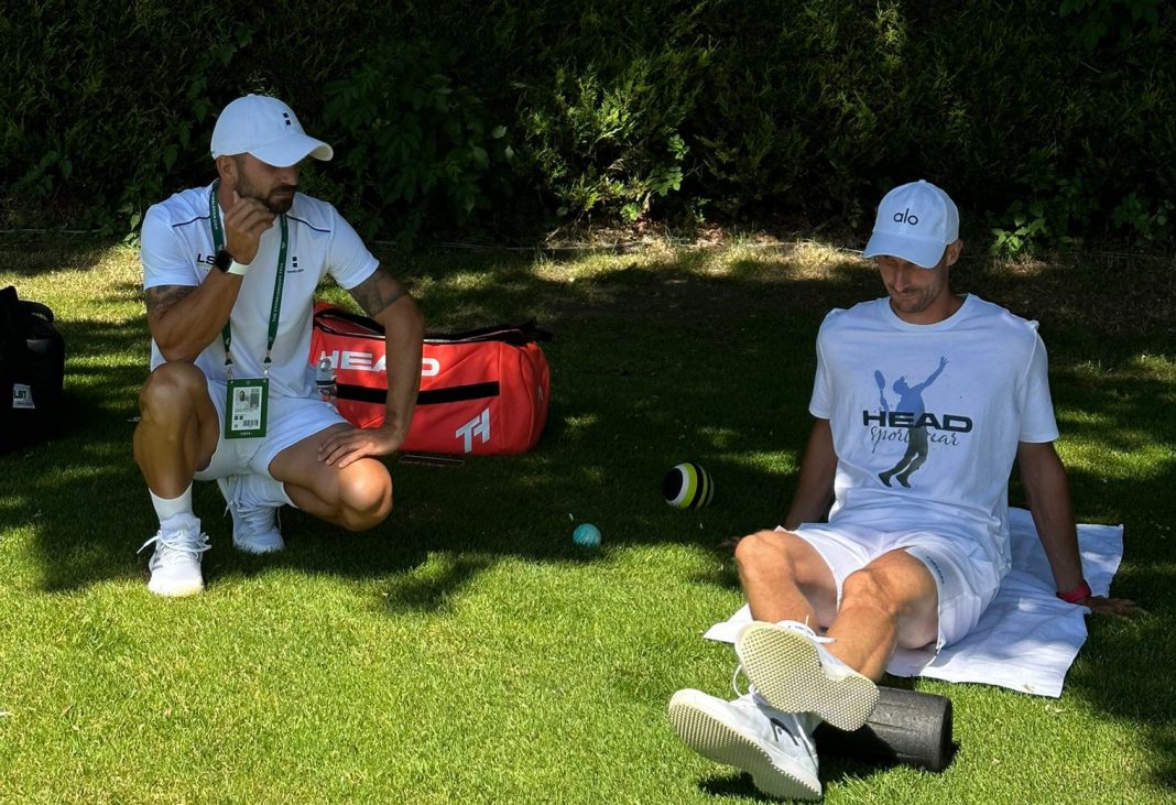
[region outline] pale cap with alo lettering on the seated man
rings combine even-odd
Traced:
[[[878,205],[866,257],[897,257],[934,268],[960,238],[960,211],[942,189],[920,179],[900,185]]]

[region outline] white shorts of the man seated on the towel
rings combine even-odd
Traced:
[[[927,530],[881,531],[860,525],[802,523],[797,537],[811,545],[833,572],[837,607],[846,577],[884,553],[903,550],[931,572],[938,590],[938,651],[963,638],[996,597],[1001,572],[988,558],[981,537]]]

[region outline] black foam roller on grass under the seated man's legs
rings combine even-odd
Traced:
[[[951,699],[934,693],[880,687],[878,704],[860,730],[828,724],[814,738],[818,753],[878,764],[943,771],[951,761]]]

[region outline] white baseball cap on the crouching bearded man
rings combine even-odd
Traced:
[[[294,109],[268,95],[238,98],[216,119],[213,159],[245,153],[274,167],[289,167],[307,157],[326,161],[335,155],[329,145],[307,137]]]

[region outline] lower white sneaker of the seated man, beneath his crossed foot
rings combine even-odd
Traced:
[[[753,693],[723,701],[702,691],[679,691],[669,700],[669,720],[687,746],[749,772],[763,793],[821,798],[813,738],[795,716],[761,705]]]

